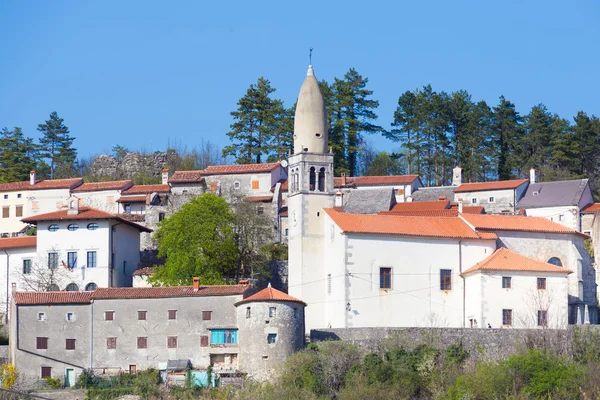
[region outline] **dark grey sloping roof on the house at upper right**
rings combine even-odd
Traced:
[[[587,185],[587,179],[532,183],[517,203],[517,209],[576,206]]]

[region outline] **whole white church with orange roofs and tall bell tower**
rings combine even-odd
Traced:
[[[350,212],[334,189],[326,115],[309,66],[288,170],[288,288],[308,305],[307,331],[597,323],[587,235],[535,217]]]

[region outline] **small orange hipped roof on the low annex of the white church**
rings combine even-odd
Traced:
[[[505,248],[499,248],[485,260],[467,269],[462,275],[476,271],[554,272],[570,274],[571,271],[533,258],[525,257]]]

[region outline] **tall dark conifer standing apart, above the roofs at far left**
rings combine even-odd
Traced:
[[[40,138],[40,156],[50,160],[52,179],[67,177],[76,170],[77,150],[72,147],[75,138],[69,135],[69,128],[63,122],[53,111],[50,119],[37,128],[43,134]]]

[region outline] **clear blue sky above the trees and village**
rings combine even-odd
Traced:
[[[3,1],[0,127],[65,119],[79,156],[120,144],[229,143],[260,77],[294,103],[314,48],[319,79],[369,79],[378,123],[400,94],[466,89],[526,114],[600,114],[600,3],[587,1]],[[370,137],[380,150],[398,145]]]

